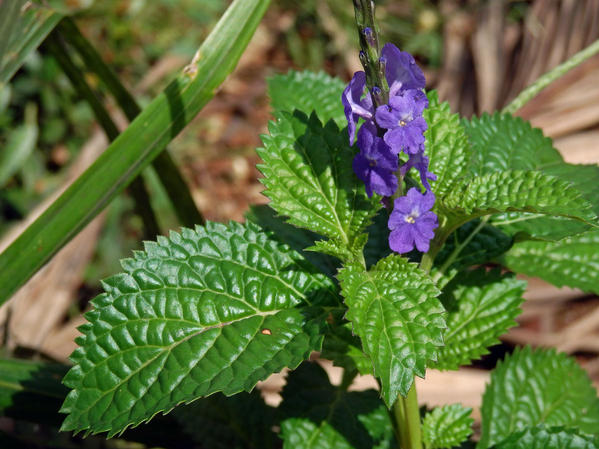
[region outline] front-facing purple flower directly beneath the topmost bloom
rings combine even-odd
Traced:
[[[424,143],[422,133],[427,125],[422,111],[426,107],[428,99],[422,90],[411,89],[401,96],[389,98],[389,105],[376,109],[377,124],[389,130],[383,138],[396,154],[402,150],[407,154],[416,154]]]

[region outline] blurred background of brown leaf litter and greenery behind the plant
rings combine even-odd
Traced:
[[[229,2],[43,0],[39,4],[71,15],[143,107],[189,62]],[[501,109],[539,75],[599,38],[599,0],[376,4],[383,41],[414,54],[425,69],[427,89],[437,89],[441,100],[467,117]],[[0,50],[10,46],[7,43],[10,35],[0,35]],[[266,131],[270,117],[265,78],[291,68],[323,69],[347,81],[361,69],[357,50],[350,0],[271,3],[235,72],[170,145],[206,219],[243,220],[248,204],[266,202],[259,193],[253,152],[261,145],[258,135]],[[9,51],[4,61],[10,56]],[[74,53],[73,57],[83,66]],[[595,56],[519,111],[555,139],[567,162],[599,162],[597,79]],[[124,129],[128,122],[106,95],[102,80],[91,71],[85,80],[117,127]],[[22,220],[43,210],[106,146],[89,104],[42,43],[10,82],[0,84],[0,250],[25,228]],[[144,171],[144,180],[160,231],[177,229],[179,220],[152,168]],[[46,274],[36,275],[0,308],[2,351],[64,362],[74,349],[82,311],[101,291],[99,280],[119,272],[118,260],[141,248],[143,238],[143,220],[126,192],[63,248]],[[504,345],[479,365],[494,366],[515,344],[557,344],[576,354],[599,381],[597,296],[535,280],[527,295],[530,301],[519,317],[521,327],[505,336]],[[446,382],[453,382],[452,389],[432,386],[435,375],[430,378],[429,387],[419,386],[420,399],[433,401],[429,405],[457,401],[476,407],[487,377],[473,370],[453,378],[449,374]],[[265,390],[279,387],[273,382]]]

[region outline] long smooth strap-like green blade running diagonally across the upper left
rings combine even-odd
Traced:
[[[268,3],[233,1],[179,77],[0,254],[0,305],[125,189],[214,96]]]

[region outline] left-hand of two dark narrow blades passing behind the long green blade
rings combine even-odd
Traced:
[[[93,114],[96,116],[96,120],[98,120],[99,125],[104,129],[108,140],[111,142],[114,141],[120,134],[119,129],[110,118],[110,115],[105,110],[102,102],[89,87],[89,84],[84,80],[80,69],[78,69],[72,62],[65,45],[60,41],[60,37],[56,31],[50,33],[46,38],[44,46],[50,53],[52,53],[52,56],[54,56],[59,63],[60,68],[65,72],[66,77],[69,78],[77,93],[90,105]],[[144,225],[144,238],[155,239],[156,235],[160,234],[160,227],[158,226],[158,220],[156,220],[154,211],[152,210],[150,196],[141,177],[135,178],[131,184],[129,184],[129,192],[131,192],[135,202],[135,213],[141,217]]]

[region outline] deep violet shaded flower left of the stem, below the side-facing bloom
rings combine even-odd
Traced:
[[[398,157],[391,148],[376,136],[374,122],[368,121],[358,131],[358,147],[361,152],[353,158],[353,171],[364,181],[368,198],[374,192],[391,196],[397,190],[397,177],[394,172],[399,168]]]

